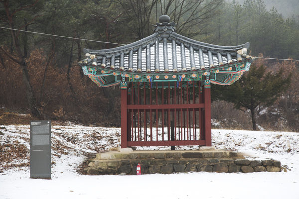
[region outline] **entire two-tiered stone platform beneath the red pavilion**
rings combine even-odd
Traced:
[[[99,153],[89,160],[84,172],[88,175],[136,175],[138,163],[141,163],[142,174],[282,171],[281,162],[277,160],[248,160],[235,152],[208,149]]]

